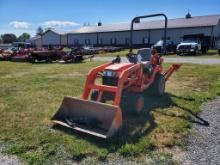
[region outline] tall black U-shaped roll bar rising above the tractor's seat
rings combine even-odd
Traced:
[[[135,18],[132,19],[131,21],[131,30],[130,30],[130,53],[132,53],[133,51],[133,31],[134,31],[134,23],[137,20],[140,20],[142,18],[149,18],[149,17],[159,17],[159,16],[163,16],[165,19],[165,25],[164,25],[164,42],[163,42],[163,47],[165,48],[164,54],[166,54],[166,38],[167,38],[167,16],[163,13],[159,13],[159,14],[151,14],[151,15],[144,15],[144,16],[137,16]]]

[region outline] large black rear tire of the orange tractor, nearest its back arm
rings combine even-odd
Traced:
[[[152,84],[153,95],[163,96],[165,93],[165,77],[162,74],[157,74]]]

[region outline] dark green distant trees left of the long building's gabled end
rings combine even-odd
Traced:
[[[41,26],[39,26],[36,31],[36,36],[43,35],[43,33],[47,30],[49,30],[49,29],[44,30]],[[31,35],[26,32],[22,33],[18,37],[13,33],[5,33],[5,34],[0,35],[0,43],[9,44],[9,43],[13,43],[13,42],[25,42],[30,37],[31,37]]]

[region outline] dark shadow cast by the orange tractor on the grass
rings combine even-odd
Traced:
[[[106,148],[108,152],[115,152],[125,144],[136,144],[139,140],[145,135],[151,133],[156,127],[157,124],[154,121],[154,116],[151,111],[154,111],[157,108],[168,108],[170,106],[176,106],[180,109],[188,112],[192,117],[184,117],[180,116],[180,118],[184,120],[188,120],[192,123],[198,123],[201,125],[208,126],[209,123],[204,119],[200,118],[198,115],[192,112],[192,110],[181,107],[172,101],[172,97],[176,97],[178,99],[186,100],[186,101],[195,101],[194,98],[185,98],[180,96],[175,96],[173,94],[166,93],[163,97],[152,97],[149,95],[145,96],[145,110],[140,116],[124,114],[123,128],[119,133],[109,139],[99,139],[97,137],[93,137],[87,134],[83,134],[77,131],[73,131],[72,129],[68,129],[59,125],[54,125],[53,128],[59,131],[63,131],[68,133],[69,135],[74,135],[77,138],[81,138],[92,142],[99,147]],[[162,115],[167,115],[164,111],[158,111]],[[172,116],[173,117],[173,116]],[[176,117],[176,116],[175,116]],[[179,116],[178,116],[179,117]],[[196,118],[198,120],[194,120]],[[152,146],[153,147],[153,146]]]

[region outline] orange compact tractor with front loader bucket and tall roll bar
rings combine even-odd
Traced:
[[[171,74],[180,68],[172,64],[163,72],[163,59],[148,48],[140,49],[138,55],[132,53],[134,23],[141,18],[163,16],[165,18],[164,44],[166,45],[167,17],[153,14],[135,17],[131,22],[130,63],[106,63],[88,73],[81,99],[65,97],[53,122],[74,130],[101,138],[113,136],[123,124],[123,114],[128,110],[140,113],[144,109],[143,94],[153,91],[163,95],[165,83]],[[165,47],[165,46],[164,46]],[[138,62],[137,56],[141,56]],[[97,81],[101,78],[102,81]],[[123,110],[123,113],[122,113]]]

